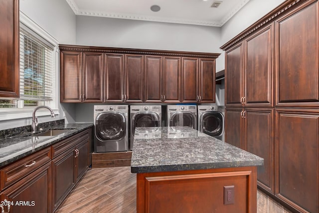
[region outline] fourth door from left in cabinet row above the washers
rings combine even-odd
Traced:
[[[125,55],[126,102],[143,102],[143,55]]]

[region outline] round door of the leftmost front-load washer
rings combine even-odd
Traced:
[[[95,119],[95,136],[100,141],[119,141],[126,135],[126,119],[119,112],[103,112]]]

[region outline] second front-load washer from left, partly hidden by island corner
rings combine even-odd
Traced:
[[[130,149],[133,150],[135,128],[152,127],[152,128],[146,128],[148,132],[156,132],[160,129],[161,106],[160,105],[131,105],[130,120],[131,120]]]

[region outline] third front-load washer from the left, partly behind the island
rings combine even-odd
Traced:
[[[167,126],[172,129],[186,126],[197,130],[196,105],[167,105]]]

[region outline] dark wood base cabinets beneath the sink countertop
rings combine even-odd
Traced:
[[[4,212],[56,211],[89,167],[90,131],[80,132],[1,168],[0,205]]]

